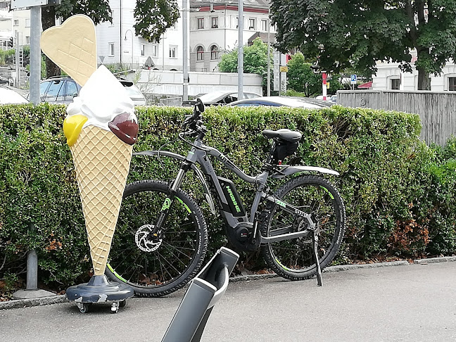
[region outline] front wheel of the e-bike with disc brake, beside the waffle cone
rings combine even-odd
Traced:
[[[201,209],[180,189],[162,232],[148,234],[167,194],[168,184],[156,180],[125,188],[106,275],[132,286],[137,296],[165,296],[182,288],[201,269],[208,248]]]

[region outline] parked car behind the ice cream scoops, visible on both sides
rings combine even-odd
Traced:
[[[135,106],[145,106],[146,98],[141,91],[127,80],[119,80],[127,89],[127,93]],[[81,86],[70,77],[51,77],[39,84],[39,96],[42,102],[56,104],[69,104],[72,99],[79,95]]]

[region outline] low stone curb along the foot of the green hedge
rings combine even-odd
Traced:
[[[419,259],[419,260],[413,260],[413,263],[417,264],[417,265],[427,265],[427,264],[433,264],[436,262],[452,262],[452,261],[456,261],[456,256]],[[393,267],[393,266],[403,266],[403,265],[411,265],[411,264],[407,260],[399,260],[399,261],[391,261],[391,262],[376,262],[374,264],[338,265],[338,266],[326,267],[323,270],[323,272],[324,273],[340,272],[340,271],[356,270],[358,268]],[[267,278],[274,278],[274,277],[278,277],[277,274],[275,274],[275,273],[248,274],[248,275],[231,277],[231,278],[229,278],[229,282],[251,281],[251,280],[267,279]],[[58,295],[58,296],[50,296],[50,297],[42,297],[42,298],[31,298],[31,299],[14,299],[14,300],[8,300],[6,302],[0,302],[0,310],[27,308],[27,307],[32,307],[32,306],[51,305],[51,304],[66,303],[66,302],[68,302],[66,295]]]

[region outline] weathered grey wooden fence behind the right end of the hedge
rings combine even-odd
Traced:
[[[337,104],[346,107],[398,110],[419,115],[426,144],[446,144],[456,136],[456,92],[340,90]]]

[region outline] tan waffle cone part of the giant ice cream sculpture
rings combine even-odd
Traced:
[[[94,274],[104,274],[127,182],[133,146],[112,132],[84,127],[70,148]]]

